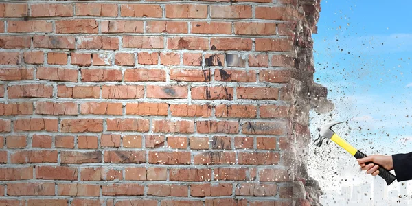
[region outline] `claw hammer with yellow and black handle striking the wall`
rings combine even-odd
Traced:
[[[343,122],[336,122],[336,123],[329,123],[325,124],[322,128],[318,128],[318,131],[320,132],[319,137],[314,140],[314,144],[318,147],[322,146],[322,142],[324,139],[332,139],[336,144],[339,144],[342,148],[344,148],[347,152],[350,153],[350,155],[356,157],[356,159],[361,159],[363,157],[367,157],[367,155],[363,154],[363,152],[356,150],[353,146],[351,146],[349,143],[347,143],[345,140],[343,140],[339,135],[336,135],[334,131],[332,130],[332,126],[335,126],[336,124],[341,124]],[[366,163],[369,164],[369,163]],[[387,185],[390,185],[393,181],[396,180],[396,176],[391,174],[388,170],[383,168],[382,166],[379,165],[379,176],[382,177]]]

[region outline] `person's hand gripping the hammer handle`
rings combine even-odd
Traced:
[[[392,156],[386,155],[369,155],[367,157],[358,159],[358,164],[361,166],[362,170],[367,170],[367,174],[372,174],[376,176],[379,174],[379,165],[387,170],[393,170]]]

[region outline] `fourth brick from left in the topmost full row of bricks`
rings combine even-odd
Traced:
[[[156,4],[122,4],[120,16],[160,18],[163,16],[163,10]]]

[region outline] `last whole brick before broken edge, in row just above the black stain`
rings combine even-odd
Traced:
[[[292,49],[292,41],[287,38],[257,38],[255,50],[262,52],[287,52]]]

